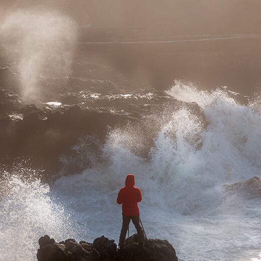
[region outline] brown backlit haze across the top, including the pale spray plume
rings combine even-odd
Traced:
[[[45,95],[39,77],[64,77],[63,86],[70,84],[75,55],[102,61],[156,89],[168,89],[176,78],[240,93],[259,87],[258,0],[2,0],[0,5],[1,42],[6,59],[19,60],[13,69],[26,98]]]

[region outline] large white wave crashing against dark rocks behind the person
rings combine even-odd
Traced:
[[[192,85],[176,82],[168,94],[184,102],[184,106],[171,115],[159,114],[161,127],[148,159],[133,153],[134,144],[142,146],[141,139],[137,139],[137,126],[118,127],[108,134],[101,158],[95,156],[97,160],[92,161],[91,169],[75,176],[74,181],[70,179],[70,184],[77,184],[80,179],[86,189],[97,186],[102,193],[108,193],[120,188],[125,176],[133,173],[147,202],[193,215],[219,207],[224,202],[224,184],[258,175],[261,167],[258,112],[240,104],[236,95],[224,88],[198,91]],[[203,115],[189,109],[187,102],[197,102]],[[83,140],[80,148],[85,148]],[[87,154],[82,155],[86,159]],[[57,181],[59,186],[62,183],[66,183],[66,178]]]

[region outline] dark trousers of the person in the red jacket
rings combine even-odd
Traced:
[[[119,235],[119,246],[125,245],[125,237],[128,230],[128,225],[130,221],[133,221],[138,233],[139,243],[143,243],[145,241],[144,232],[140,225],[140,214],[137,216],[125,216],[122,214],[122,227]]]

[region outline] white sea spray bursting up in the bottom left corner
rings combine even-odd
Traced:
[[[50,234],[63,240],[75,234],[71,213],[37,172],[23,167],[17,173],[2,174],[0,260],[36,260],[39,237]]]

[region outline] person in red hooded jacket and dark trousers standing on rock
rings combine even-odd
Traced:
[[[119,248],[124,248],[125,237],[129,222],[132,220],[138,233],[139,243],[144,243],[144,231],[140,225],[140,209],[138,202],[142,201],[142,192],[135,186],[135,177],[128,174],[125,180],[125,187],[118,192],[117,203],[122,204],[122,227],[119,236]]]

